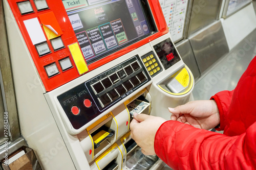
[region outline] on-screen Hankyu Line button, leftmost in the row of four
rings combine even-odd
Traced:
[[[90,44],[89,38],[86,35],[86,32],[83,31],[83,32],[77,33],[76,38],[81,47],[83,57],[85,59],[87,59],[89,57],[93,57],[94,56],[93,49]]]

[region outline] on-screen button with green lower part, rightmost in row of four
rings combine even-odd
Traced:
[[[119,44],[128,40],[127,37],[126,37],[125,31],[124,31],[124,28],[123,28],[123,24],[122,24],[121,19],[117,19],[115,21],[112,21],[111,26],[112,26],[112,29],[113,29],[113,31],[116,35],[116,39],[117,39]]]

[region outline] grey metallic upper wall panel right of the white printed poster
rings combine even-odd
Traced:
[[[214,22],[220,13],[222,0],[194,0],[190,13],[187,35]]]

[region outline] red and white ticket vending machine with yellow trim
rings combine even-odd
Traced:
[[[169,119],[194,77],[159,2],[3,3],[20,129],[42,167],[160,169],[132,140],[131,112]]]

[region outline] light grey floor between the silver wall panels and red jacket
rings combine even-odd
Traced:
[[[255,55],[256,30],[212,65],[197,80],[193,90],[194,99],[209,100],[212,95],[219,91],[233,90]]]

